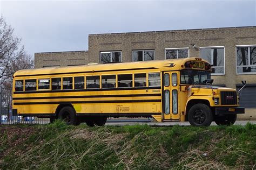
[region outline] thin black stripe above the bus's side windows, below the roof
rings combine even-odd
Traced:
[[[43,76],[43,75],[60,75],[60,74],[80,74],[80,73],[100,73],[100,72],[120,72],[120,71],[142,70],[142,69],[158,69],[158,68],[156,68],[156,67],[147,67],[147,68],[131,68],[131,69],[96,70],[96,71],[87,71],[87,72],[31,74],[31,75],[16,75],[15,77],[29,77],[29,76]]]

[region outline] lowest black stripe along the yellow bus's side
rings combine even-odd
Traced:
[[[29,104],[83,104],[83,103],[149,103],[161,102],[161,100],[114,100],[114,101],[72,101],[72,102],[15,102],[14,105],[29,105]]]

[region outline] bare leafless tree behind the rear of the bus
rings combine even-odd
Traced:
[[[21,45],[21,39],[14,35],[14,29],[0,17],[0,86],[3,87],[1,114],[10,118],[12,101],[12,76],[17,70],[33,68],[31,56]]]

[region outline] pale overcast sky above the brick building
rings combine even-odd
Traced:
[[[26,51],[88,49],[88,34],[256,25],[256,0],[3,1]]]

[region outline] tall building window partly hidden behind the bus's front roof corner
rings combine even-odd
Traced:
[[[212,75],[225,74],[224,47],[200,47],[200,58],[205,59],[212,67]]]

